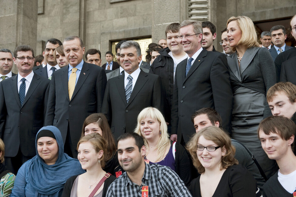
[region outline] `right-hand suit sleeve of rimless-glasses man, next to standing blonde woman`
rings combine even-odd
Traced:
[[[221,53],[216,56],[210,71],[215,110],[222,117],[222,127],[230,132],[233,94],[226,57]],[[175,93],[175,92],[174,92]]]

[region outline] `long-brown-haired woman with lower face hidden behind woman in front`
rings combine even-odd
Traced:
[[[118,177],[124,171],[119,165],[115,141],[106,116],[103,113],[91,114],[84,120],[81,138],[91,133],[98,133],[107,141],[106,151],[104,152],[106,161],[104,170]]]

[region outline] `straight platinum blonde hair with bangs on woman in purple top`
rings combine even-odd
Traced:
[[[170,145],[170,140],[168,135],[168,126],[165,123],[165,118],[163,117],[162,113],[158,109],[156,109],[155,107],[146,107],[138,115],[138,119],[137,119],[138,124],[134,130],[135,133],[141,135],[142,137],[143,135],[141,133],[141,120],[143,120],[146,117],[150,117],[151,119],[158,121],[158,123],[160,124],[161,135],[157,143],[157,146],[154,148],[154,149],[157,149],[156,160],[159,161],[160,159],[163,158],[167,147]],[[148,142],[145,138],[144,138],[144,144],[145,144],[146,155],[147,155],[149,152],[149,147],[148,147]]]

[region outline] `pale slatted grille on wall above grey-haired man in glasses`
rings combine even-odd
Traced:
[[[188,19],[198,21],[209,21],[210,0],[188,0]]]

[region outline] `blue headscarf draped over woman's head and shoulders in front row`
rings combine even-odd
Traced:
[[[59,146],[59,157],[53,165],[47,165],[37,151],[37,136],[42,130],[53,132]],[[63,138],[58,128],[54,126],[42,127],[36,135],[35,147],[37,155],[28,161],[30,164],[26,175],[26,181],[30,182],[36,191],[35,196],[59,197],[68,178],[85,172],[77,159],[64,153]]]

